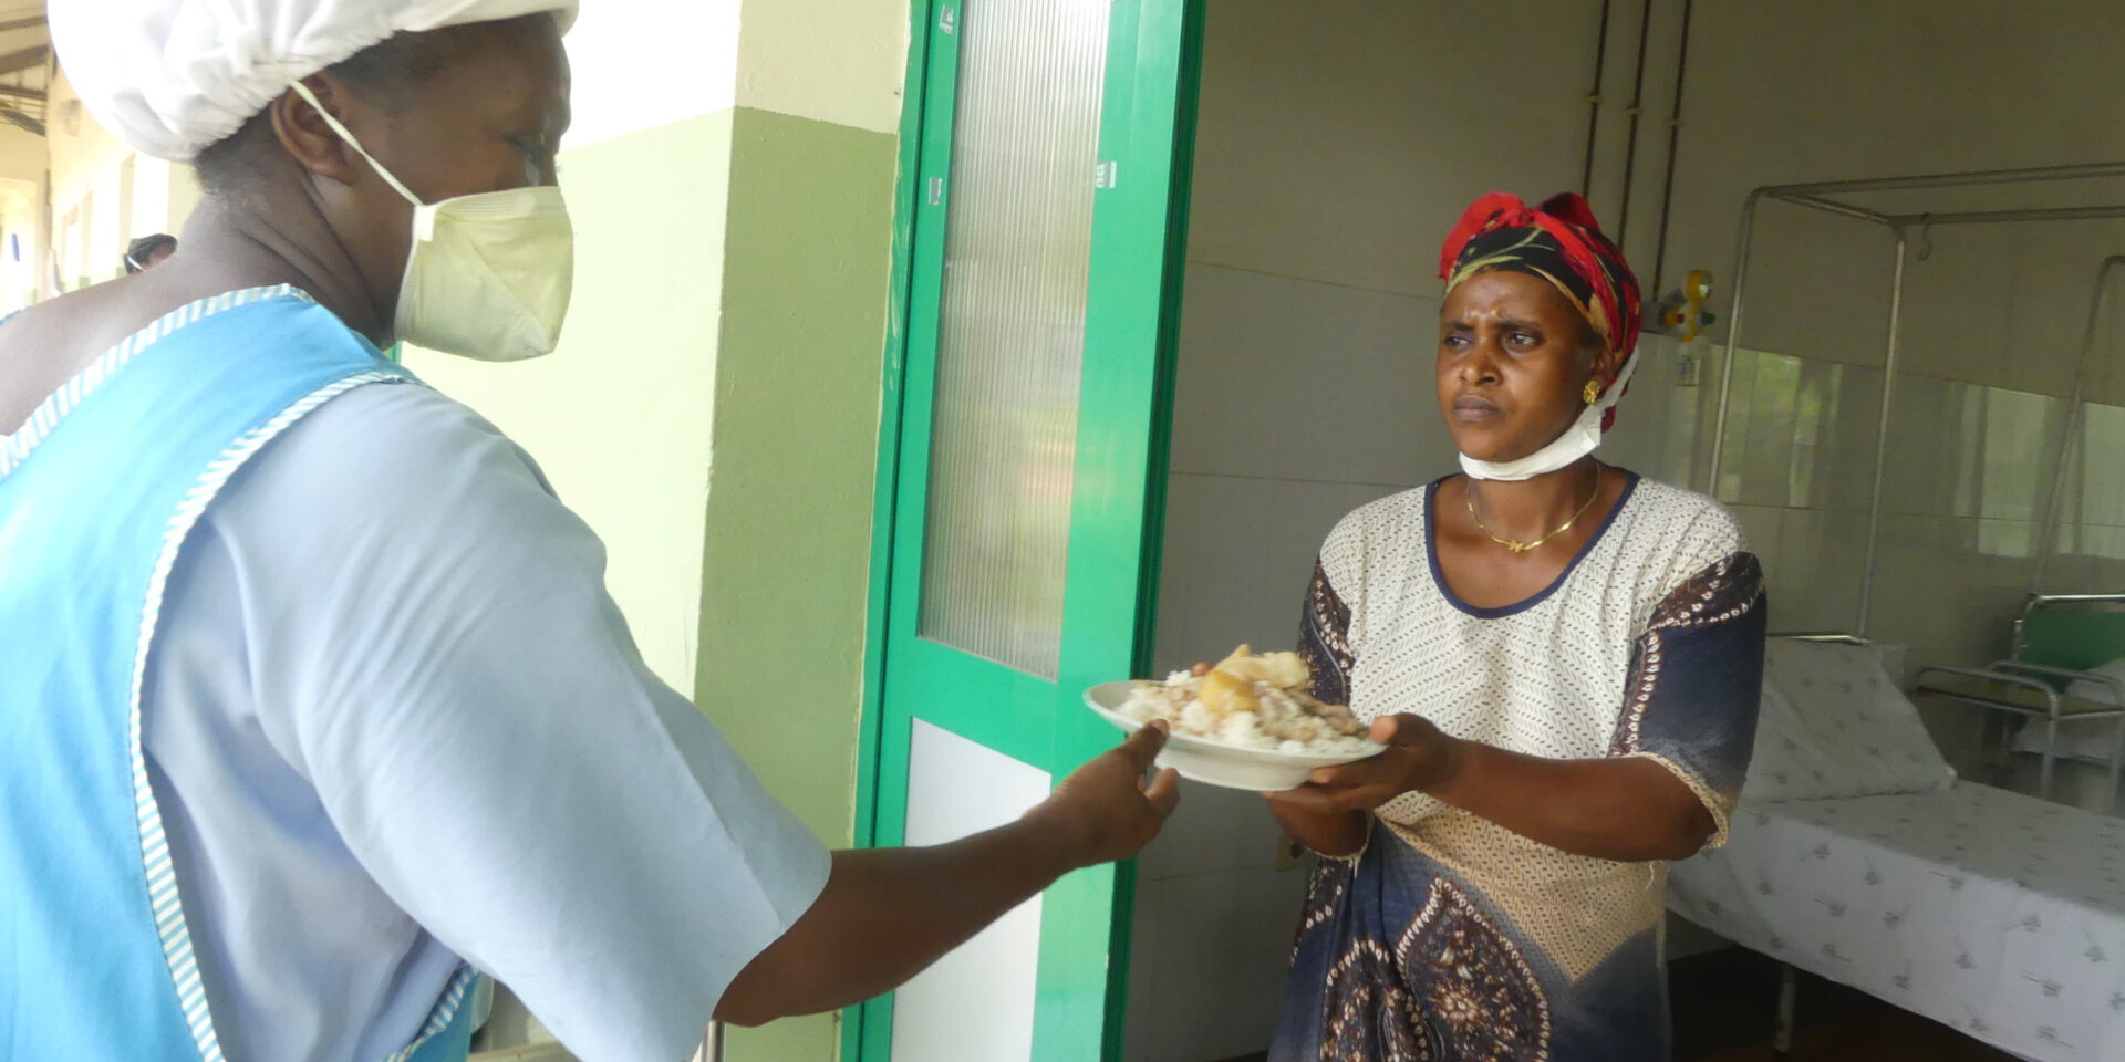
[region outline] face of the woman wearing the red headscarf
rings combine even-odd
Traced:
[[[1579,310],[1541,276],[1492,270],[1439,308],[1439,412],[1460,452],[1517,461],[1564,433],[1604,372]],[[1602,376],[1606,380],[1606,376]]]

